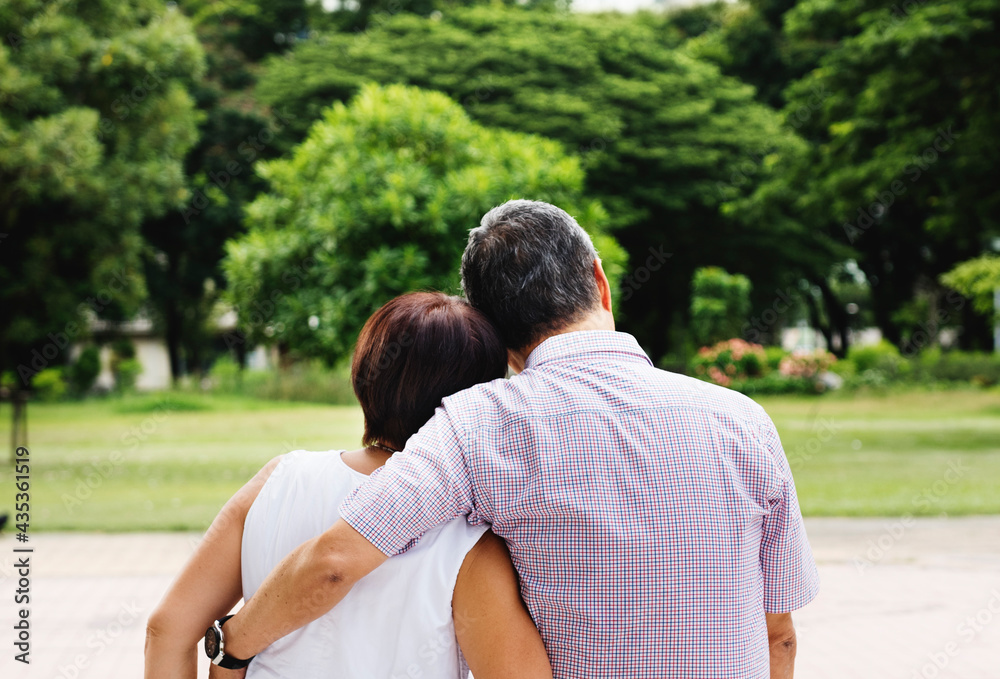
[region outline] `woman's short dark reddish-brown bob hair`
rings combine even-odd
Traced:
[[[440,292],[396,297],[368,319],[354,350],[362,443],[402,450],[445,396],[506,373],[500,334],[468,302]]]

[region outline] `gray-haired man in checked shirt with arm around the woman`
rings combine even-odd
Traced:
[[[314,620],[465,515],[507,542],[560,679],[791,677],[791,612],[818,578],[770,418],[615,332],[601,261],[555,206],[491,210],[462,284],[518,374],[445,399],[225,624],[226,655]]]

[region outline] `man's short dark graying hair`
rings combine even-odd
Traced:
[[[590,236],[564,210],[511,200],[469,233],[462,289],[508,348],[523,349],[600,304],[595,259]]]

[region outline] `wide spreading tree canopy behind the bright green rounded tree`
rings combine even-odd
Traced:
[[[778,228],[724,206],[749,195],[803,151],[751,87],[676,49],[676,32],[649,15],[455,9],[442,18],[395,16],[363,35],[327,35],[268,63],[258,94],[288,107],[304,134],[331,101],[364,82],[445,92],[477,121],[540,134],[581,155],[588,195],[608,209],[639,262],[672,256],[648,282],[628,282],[623,327],[654,355],[665,328],[684,325],[696,268],[724,266],[762,298],[806,252],[800,221]],[[787,265],[787,266],[786,266]]]

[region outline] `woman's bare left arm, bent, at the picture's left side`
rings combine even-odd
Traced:
[[[194,679],[198,643],[243,596],[240,554],[250,505],[280,457],[230,498],[146,624],[146,679]]]

